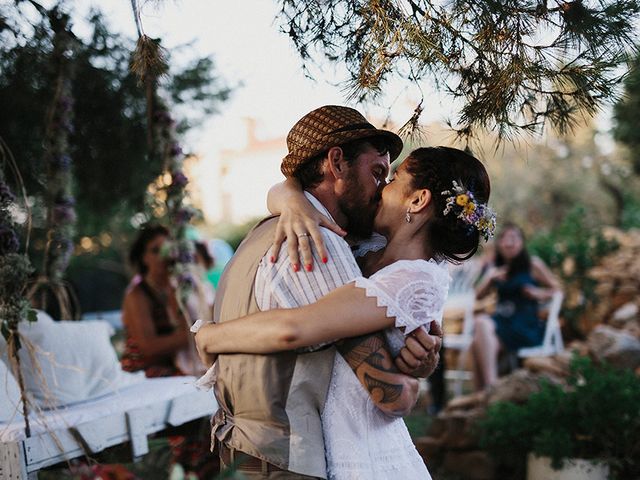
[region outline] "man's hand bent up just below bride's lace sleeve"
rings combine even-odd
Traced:
[[[438,366],[441,347],[442,327],[437,322],[431,322],[429,333],[419,328],[407,337],[405,346],[395,360],[396,367],[405,375],[426,378]]]

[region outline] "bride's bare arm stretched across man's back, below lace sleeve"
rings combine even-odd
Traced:
[[[220,324],[208,324],[196,335],[201,352],[273,353],[332,342],[394,325],[386,308],[353,283],[316,303],[300,308],[257,312]]]

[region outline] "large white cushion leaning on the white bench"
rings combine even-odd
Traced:
[[[25,387],[40,408],[98,398],[144,379],[143,372],[128,373],[120,367],[110,341],[113,329],[107,322],[55,322],[39,312],[37,322],[21,323],[19,331],[23,337],[20,362]],[[0,353],[6,361],[4,342]]]

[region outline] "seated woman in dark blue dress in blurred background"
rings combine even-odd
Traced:
[[[560,288],[545,263],[527,252],[522,230],[506,224],[496,238],[494,264],[476,288],[478,299],[492,291],[498,296],[492,317],[482,314],[475,318],[471,352],[477,390],[496,382],[501,350],[516,352],[542,343],[545,325],[538,316],[538,306]]]

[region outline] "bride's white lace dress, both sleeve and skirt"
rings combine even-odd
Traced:
[[[355,284],[386,307],[406,335],[420,326],[428,328],[432,320],[442,321],[449,273],[444,263],[402,260]],[[374,405],[339,354],[322,427],[330,480],[431,479],[404,421]]]

